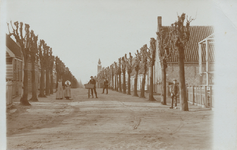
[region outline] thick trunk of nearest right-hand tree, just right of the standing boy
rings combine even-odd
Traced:
[[[188,111],[188,101],[185,88],[185,73],[184,73],[184,49],[179,47],[179,94],[180,94],[180,109]]]

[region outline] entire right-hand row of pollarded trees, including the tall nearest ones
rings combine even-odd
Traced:
[[[180,100],[181,100],[181,110],[188,111],[188,102],[186,97],[186,88],[185,88],[185,74],[184,74],[184,49],[186,43],[189,41],[190,37],[190,22],[192,18],[186,19],[186,15],[183,13],[181,16],[178,16],[178,21],[173,23],[170,27],[162,27],[161,23],[158,24],[157,40],[151,38],[150,47],[147,47],[147,44],[143,45],[140,48],[140,51],[136,51],[135,57],[129,53],[129,58],[127,55],[118,59],[118,62],[114,62],[109,67],[104,68],[98,74],[98,78],[104,79],[107,78],[111,81],[112,87],[115,87],[113,90],[127,93],[131,95],[130,91],[130,76],[132,71],[135,72],[134,78],[134,92],[133,96],[138,96],[137,94],[137,81],[138,74],[143,74],[142,86],[140,97],[145,97],[145,79],[147,71],[149,70],[149,100],[154,101],[153,96],[153,66],[155,63],[155,55],[158,52],[160,65],[162,68],[162,100],[161,103],[166,105],[166,68],[167,68],[167,59],[171,55],[178,56],[179,63],[179,81],[180,81]],[[161,17],[158,17],[158,20]],[[158,21],[159,22],[159,21]],[[160,21],[161,22],[161,21]],[[184,25],[185,24],[185,25]],[[126,71],[128,75],[127,85],[128,91],[126,92],[126,84],[123,84],[121,87],[121,74],[123,74],[123,83],[126,83]],[[113,81],[115,79],[115,81]],[[115,85],[113,85],[115,84]]]

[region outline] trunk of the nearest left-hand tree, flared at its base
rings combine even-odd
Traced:
[[[24,82],[23,82],[23,95],[20,99],[22,105],[31,105],[28,101],[28,59],[24,57]]]

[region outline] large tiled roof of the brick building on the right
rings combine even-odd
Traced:
[[[164,26],[164,28],[169,28],[167,26]],[[185,54],[185,60],[184,62],[195,62],[198,63],[199,55],[198,55],[198,42],[202,41],[209,35],[214,33],[214,28],[212,26],[190,26],[190,39],[186,45],[186,48],[184,50]],[[203,62],[205,62],[205,46],[202,46],[203,50]],[[211,61],[214,61],[214,45],[209,44],[210,48],[210,59]],[[169,63],[177,63],[178,62],[178,56],[172,55],[170,59],[167,60]]]

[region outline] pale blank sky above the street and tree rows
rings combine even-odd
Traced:
[[[29,24],[85,83],[97,74],[99,58],[107,67],[149,45],[157,16],[170,25],[184,12],[196,18],[193,26],[213,25],[212,6],[208,0],[7,0],[6,8],[7,22]]]

